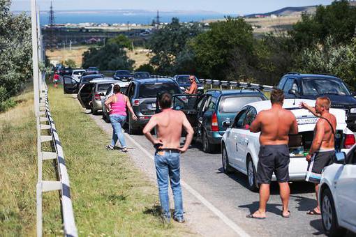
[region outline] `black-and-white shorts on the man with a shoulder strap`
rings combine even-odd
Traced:
[[[318,151],[314,153],[311,162],[308,164],[306,172],[306,181],[311,183],[320,183],[322,169],[332,165],[335,160],[335,151]]]

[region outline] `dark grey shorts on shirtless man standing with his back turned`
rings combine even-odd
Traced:
[[[279,183],[289,181],[289,148],[283,145],[262,145],[258,153],[257,183],[271,183],[272,174]]]

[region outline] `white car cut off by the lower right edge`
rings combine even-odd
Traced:
[[[348,155],[336,153],[336,160],[320,181],[322,226],[328,236],[345,236],[346,229],[356,234],[356,146]]]

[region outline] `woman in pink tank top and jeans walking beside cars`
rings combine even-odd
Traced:
[[[127,152],[124,133],[121,129],[122,125],[124,125],[126,121],[126,107],[130,110],[133,120],[137,120],[138,117],[133,112],[128,97],[120,93],[120,86],[114,85],[113,91],[114,95],[111,95],[105,101],[105,107],[108,111],[110,111],[109,118],[112,125],[111,144],[107,145],[106,148],[113,150],[115,144],[117,143],[117,139],[119,139],[119,142],[121,144],[121,151]]]

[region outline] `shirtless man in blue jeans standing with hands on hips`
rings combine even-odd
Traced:
[[[168,181],[173,192],[175,212],[173,219],[179,223],[184,222],[183,200],[180,185],[180,154],[186,152],[193,139],[193,128],[186,115],[171,109],[172,95],[163,93],[158,100],[162,112],[155,114],[143,129],[149,142],[154,144],[156,153],[154,162],[158,183],[159,199],[164,220],[170,222],[170,202],[168,197]],[[157,138],[151,135],[151,130],[156,127]],[[186,130],[186,141],[180,147],[182,128]]]

